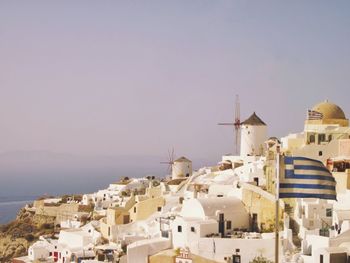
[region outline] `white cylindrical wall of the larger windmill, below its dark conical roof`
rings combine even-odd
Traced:
[[[241,126],[241,156],[262,155],[267,139],[266,125]]]

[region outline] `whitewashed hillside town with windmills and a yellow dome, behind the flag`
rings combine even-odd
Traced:
[[[166,178],[124,175],[81,198],[27,205],[28,213],[53,218],[54,230],[13,262],[267,263],[276,253],[279,262],[349,262],[345,113],[320,102],[307,112],[303,131],[282,138],[268,137],[263,119],[254,112],[240,122],[239,153],[214,166],[193,170],[183,156],[170,162]],[[322,162],[335,179],[336,200],[283,198],[276,209],[279,156]]]

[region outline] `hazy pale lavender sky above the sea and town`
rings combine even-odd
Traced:
[[[1,1],[0,151],[217,159],[235,94],[269,135],[350,117],[349,1]]]

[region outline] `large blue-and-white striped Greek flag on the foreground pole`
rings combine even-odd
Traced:
[[[335,179],[322,162],[305,157],[281,157],[279,197],[336,200]]]

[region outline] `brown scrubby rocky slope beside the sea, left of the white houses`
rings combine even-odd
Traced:
[[[15,220],[0,226],[0,262],[27,255],[41,235],[54,234],[54,217],[38,216],[22,208]]]

